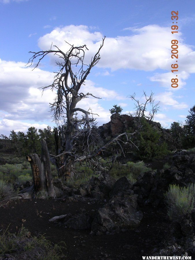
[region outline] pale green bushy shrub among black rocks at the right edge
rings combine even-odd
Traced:
[[[191,183],[188,187],[170,185],[165,194],[165,201],[170,220],[179,219],[187,213],[192,213],[195,206],[195,184]]]

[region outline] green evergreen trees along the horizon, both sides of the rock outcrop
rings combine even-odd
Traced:
[[[149,159],[162,157],[168,153],[168,150],[170,151],[173,148],[194,148],[195,105],[190,109],[189,112],[190,114],[186,117],[187,119],[185,120],[185,124],[181,122],[173,122],[170,129],[166,131],[162,131],[162,128],[157,129],[156,127],[149,124],[148,120],[146,120],[144,116],[138,118],[139,124],[136,124],[136,129],[127,129],[127,132],[132,133],[132,131],[137,130],[137,134],[132,138],[132,141],[136,146],[139,147],[139,151],[133,146],[129,148],[130,150],[128,150],[127,148],[126,152],[133,152],[140,159]],[[54,132],[60,138],[61,131],[57,128],[54,128],[52,130],[49,126],[47,128],[44,128],[43,130],[37,130],[35,127],[29,127],[26,134],[21,131],[18,131],[16,133],[14,130],[12,130],[9,137],[5,135],[0,135],[1,152],[7,151],[9,153],[15,153],[19,156],[25,156],[28,153],[40,154],[40,140],[44,139],[47,143],[49,153],[56,154]],[[162,142],[161,140],[164,141]],[[104,141],[106,142],[107,140],[105,139]],[[81,148],[77,147],[77,149]],[[115,146],[110,146],[110,153],[112,153],[112,149],[114,153]],[[135,149],[135,151],[133,149]]]

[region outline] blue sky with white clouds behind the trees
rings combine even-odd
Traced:
[[[175,34],[171,11],[178,11]],[[64,40],[86,44],[88,62],[106,36],[101,60],[82,88],[102,99],[78,103],[99,114],[99,125],[109,122],[115,104],[124,114],[133,112],[128,95],[135,92],[142,101],[143,90],[160,101],[154,120],[164,127],[185,122],[195,104],[194,1],[0,0],[0,19],[0,134],[54,125],[49,102],[55,95],[46,90],[42,96],[38,88],[52,82],[55,60],[48,57],[33,71],[25,66],[29,51],[48,49],[51,42],[63,50]],[[171,87],[173,39],[179,41],[178,88]]]

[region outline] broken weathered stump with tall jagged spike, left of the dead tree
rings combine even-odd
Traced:
[[[45,140],[41,140],[41,159],[34,153],[27,155],[27,161],[29,161],[33,173],[34,197],[56,198],[51,177],[49,153]]]

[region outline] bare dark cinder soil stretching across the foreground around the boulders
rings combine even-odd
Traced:
[[[64,241],[66,259],[142,259],[151,255],[167,237],[168,222],[164,213],[148,207],[142,208],[143,219],[135,230],[114,235],[90,235],[90,230],[73,230],[49,222],[49,219],[62,214],[79,213],[82,209],[93,215],[104,202],[70,201],[60,199],[17,199],[0,207],[1,232],[9,226],[10,232],[17,232],[23,224],[31,235],[39,233],[52,243]]]

